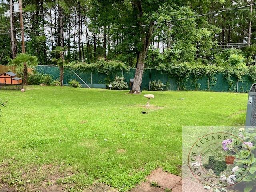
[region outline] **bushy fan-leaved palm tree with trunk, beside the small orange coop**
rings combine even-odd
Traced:
[[[32,56],[27,53],[20,53],[16,56],[15,59],[12,60],[11,66],[15,67],[15,71],[18,75],[22,75],[23,73],[23,82],[27,83],[28,78],[28,68],[32,68],[38,64],[38,60],[36,56]]]

